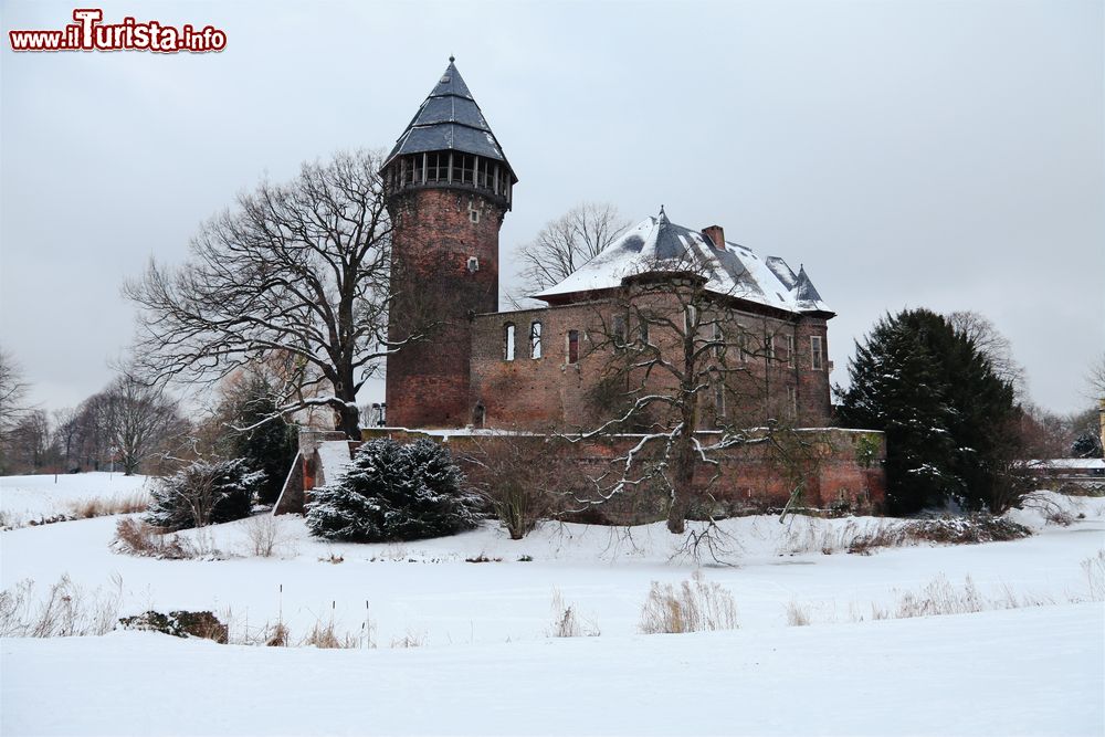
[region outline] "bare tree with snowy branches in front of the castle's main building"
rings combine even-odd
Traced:
[[[707,288],[709,276],[708,262],[669,259],[596,305],[587,351],[602,361],[603,379],[592,404],[614,419],[567,435],[580,442],[634,433],[611,471],[592,480],[599,502],[659,485],[674,534],[684,531],[695,502],[711,501],[724,455],[760,444],[787,452],[779,434],[793,414],[770,391],[771,369],[792,359],[782,348],[792,326],[739,312],[740,295]]]

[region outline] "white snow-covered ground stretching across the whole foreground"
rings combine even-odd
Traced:
[[[106,476],[0,480],[0,510],[116,493],[123,476]],[[30,579],[42,594],[67,575],[88,601],[117,598],[119,615],[211,610],[238,642],[277,621],[293,640],[333,622],[360,646],[6,639],[0,730],[1101,735],[1105,604],[1082,562],[1105,548],[1105,501],[1045,501],[1074,522],[1022,510],[1038,533],[1023,540],[870,556],[846,543],[886,520],[726,520],[717,557],[729,565],[706,556],[701,570],[733,594],[739,629],[694,634],[640,633],[651,585],[699,568],[661,525],[546,525],[522,541],[488,526],[387,546],[320,543],[284,517],[277,557],[252,555],[257,523],[243,520],[190,533],[196,560],[112,552],[118,517],[11,529],[6,589]],[[968,577],[985,611],[875,617]],[[597,636],[550,636],[564,607]],[[790,625],[796,612],[810,624]]]

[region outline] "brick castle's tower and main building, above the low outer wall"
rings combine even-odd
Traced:
[[[702,429],[734,417],[753,424],[775,415],[796,427],[829,422],[833,313],[803,269],[796,274],[782,259],[727,242],[720,227],[683,228],[661,209],[559,284],[530,295],[547,306],[498,312],[498,233],[518,178],[452,57],[381,175],[394,228],[398,308],[390,339],[402,343],[420,322],[436,322],[430,339],[388,357],[389,427],[601,422],[594,390],[609,373],[611,351],[598,346],[615,330],[622,341],[648,330],[633,285],[656,277],[675,284],[674,272],[705,280],[716,314],[701,320],[699,331],[708,339],[709,330],[724,328],[718,343],[740,344],[730,346],[728,375],[736,377],[739,364],[741,376],[712,392]],[[641,299],[655,303],[663,291],[645,289]],[[660,307],[651,309],[651,322],[665,323]]]

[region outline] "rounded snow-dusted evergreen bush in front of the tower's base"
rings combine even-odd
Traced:
[[[478,499],[449,451],[429,440],[365,443],[341,480],[315,488],[307,505],[312,534],[381,543],[454,535],[480,519]]]

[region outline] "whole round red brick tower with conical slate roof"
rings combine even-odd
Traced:
[[[392,222],[387,423],[473,421],[472,317],[498,309],[498,230],[518,178],[453,59],[381,169]],[[401,344],[401,345],[400,345]]]

